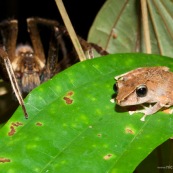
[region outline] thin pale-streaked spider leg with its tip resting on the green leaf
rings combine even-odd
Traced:
[[[15,77],[15,74],[14,74],[14,71],[13,71],[13,67],[11,65],[11,62],[10,62],[9,58],[8,58],[7,52],[5,52],[2,47],[0,47],[0,57],[4,60],[4,64],[5,64],[5,67],[6,67],[6,70],[7,70],[7,73],[8,73],[12,88],[14,90],[14,93],[15,93],[18,101],[19,101],[19,104],[21,105],[21,107],[23,109],[25,118],[28,118],[28,114],[27,114],[27,111],[26,111],[26,108],[25,108],[25,105],[24,105],[24,101],[23,101],[23,98],[22,98],[22,95],[21,95],[21,92],[20,92],[16,77]]]

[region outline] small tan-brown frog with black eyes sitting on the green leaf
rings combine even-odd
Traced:
[[[147,115],[161,108],[173,105],[173,72],[168,67],[142,67],[115,77],[117,96],[114,99],[120,106],[142,105],[148,107],[135,112],[142,112],[145,121]]]

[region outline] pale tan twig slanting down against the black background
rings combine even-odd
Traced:
[[[78,56],[79,56],[80,61],[86,60],[85,54],[84,54],[84,52],[82,50],[82,47],[81,47],[81,45],[79,43],[79,40],[78,40],[78,38],[76,36],[76,33],[75,33],[74,29],[73,29],[73,26],[72,26],[72,24],[70,22],[70,19],[68,17],[68,14],[66,12],[66,9],[64,7],[64,4],[63,4],[62,0],[55,0],[55,2],[57,4],[57,6],[58,6],[59,12],[60,12],[61,17],[62,17],[62,19],[64,21],[64,24],[65,24],[65,26],[67,28],[67,31],[68,31],[68,33],[70,35],[70,38],[72,40],[72,43],[73,43],[73,45],[75,47],[75,50],[76,50]]]

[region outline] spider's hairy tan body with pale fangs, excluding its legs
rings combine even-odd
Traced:
[[[29,45],[19,45],[15,51],[16,58],[12,61],[18,83],[23,92],[28,93],[41,83],[41,74],[45,68],[45,62],[35,56]]]

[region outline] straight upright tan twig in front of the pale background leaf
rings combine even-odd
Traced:
[[[147,11],[147,1],[141,0],[141,9],[142,9],[142,21],[144,29],[144,42],[146,47],[146,53],[151,53],[151,42],[150,42],[150,32],[148,24],[148,11]]]

